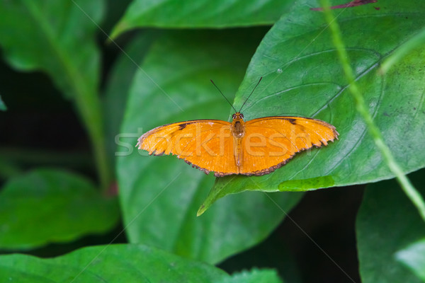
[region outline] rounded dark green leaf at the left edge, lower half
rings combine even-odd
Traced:
[[[117,224],[117,204],[74,173],[42,168],[20,175],[0,192],[0,248],[35,248],[103,233]]]

